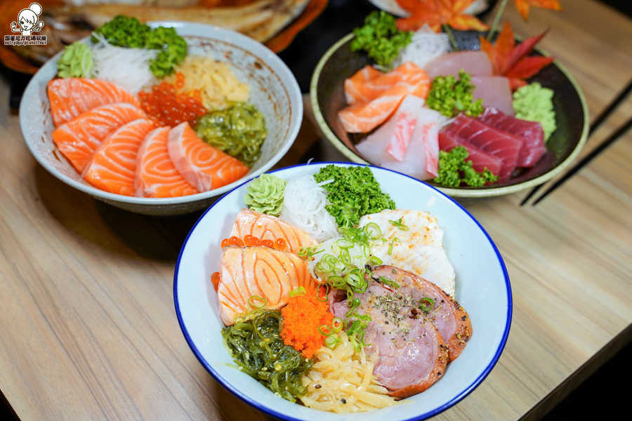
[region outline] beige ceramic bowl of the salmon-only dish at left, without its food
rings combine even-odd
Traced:
[[[60,154],[51,138],[54,127],[46,85],[57,74],[57,59],[61,53],[42,66],[27,86],[20,104],[20,127],[35,159],[48,172],[81,192],[112,206],[145,215],[189,213],[208,207],[225,192],[265,173],[284,156],[301,128],[301,90],[284,62],[263,44],[247,36],[189,22],[152,22],[151,25],[175,27],[178,34],[187,40],[189,54],[210,55],[216,60],[230,62],[237,78],[251,86],[250,102],[265,116],[268,138],[263,143],[261,159],[244,178],[210,192],[169,199],[121,196],[89,185]]]

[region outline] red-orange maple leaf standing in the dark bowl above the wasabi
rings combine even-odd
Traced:
[[[527,38],[522,43],[515,45],[511,24],[505,22],[503,30],[496,39],[496,44],[492,44],[480,36],[480,49],[487,53],[492,62],[494,74],[506,76],[513,90],[525,86],[525,79],[534,76],[543,67],[550,65],[555,58],[542,56],[528,56],[533,48],[546,35],[546,32]]]

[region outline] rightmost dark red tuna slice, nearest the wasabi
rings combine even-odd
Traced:
[[[529,168],[534,166],[546,153],[544,131],[542,130],[542,125],[536,121],[516,119],[494,107],[487,107],[485,112],[480,114],[477,119],[487,124],[487,126],[506,131],[522,139],[522,149],[520,149],[520,155],[518,155],[519,167]]]

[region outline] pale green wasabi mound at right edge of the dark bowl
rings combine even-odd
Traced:
[[[553,111],[553,89],[543,88],[538,82],[522,86],[513,93],[513,109],[517,119],[539,122],[544,140],[551,138],[558,128]]]

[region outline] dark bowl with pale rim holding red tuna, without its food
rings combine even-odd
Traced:
[[[461,50],[478,50],[478,32],[455,32]],[[338,120],[338,111],[346,107],[343,81],[372,64],[372,60],[361,51],[352,53],[349,43],[353,34],[345,36],[320,59],[310,86],[312,107],[320,128],[327,139],[348,159],[356,163],[370,163],[362,159],[355,149],[352,138],[345,133]],[[534,52],[533,54],[545,54]],[[500,196],[519,192],[539,185],[555,177],[577,158],[588,138],[588,107],[584,94],[572,76],[558,62],[541,70],[530,82],[540,82],[542,86],[555,91],[553,106],[558,130],[546,142],[548,152],[536,166],[515,173],[505,182],[487,187],[440,187],[442,192],[454,197]],[[433,185],[432,182],[429,182]]]

